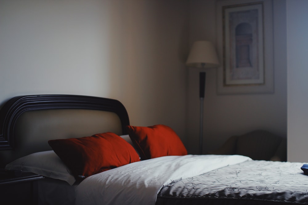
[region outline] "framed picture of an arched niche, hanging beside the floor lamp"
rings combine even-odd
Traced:
[[[219,94],[273,93],[272,1],[217,1]]]

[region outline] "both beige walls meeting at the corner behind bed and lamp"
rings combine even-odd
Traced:
[[[0,104],[28,94],[115,98],[131,124],[167,124],[196,153],[200,70],[184,62],[193,41],[216,42],[215,6],[215,0],[2,0]],[[208,69],[205,151],[253,129],[286,136],[285,0],[274,0],[273,8],[275,92],[217,95],[216,70]]]

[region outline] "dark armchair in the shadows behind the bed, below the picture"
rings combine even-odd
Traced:
[[[286,161],[286,140],[265,130],[230,137],[220,148],[209,152],[218,155],[244,155],[253,160]]]

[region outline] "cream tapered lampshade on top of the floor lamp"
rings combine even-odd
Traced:
[[[197,68],[218,67],[219,61],[213,43],[210,41],[194,42],[189,52],[186,65]]]

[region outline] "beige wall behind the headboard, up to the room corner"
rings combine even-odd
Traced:
[[[32,94],[120,100],[132,125],[185,132],[187,1],[1,0],[0,104]]]

